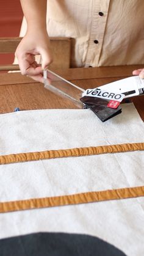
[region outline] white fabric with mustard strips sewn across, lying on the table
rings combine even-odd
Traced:
[[[102,123],[90,110],[51,109],[0,115],[1,155],[143,142],[133,104]],[[142,186],[143,152],[49,159],[0,166],[1,202]],[[143,255],[144,200],[113,200],[0,214],[0,238],[32,232],[95,235],[126,255]]]

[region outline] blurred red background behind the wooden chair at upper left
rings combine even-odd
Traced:
[[[18,37],[23,12],[20,0],[0,0],[0,37]],[[14,54],[0,54],[1,64],[12,64]]]

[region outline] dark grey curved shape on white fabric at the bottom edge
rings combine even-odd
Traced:
[[[0,240],[1,256],[124,256],[95,236],[69,233],[32,233]]]

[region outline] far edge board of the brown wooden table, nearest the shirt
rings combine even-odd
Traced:
[[[117,67],[96,67],[96,68],[67,68],[54,69],[58,75],[67,80],[95,79],[95,78],[124,78],[132,76],[132,70],[142,68],[142,65],[117,66]],[[2,84],[24,84],[36,82],[26,76],[21,76],[20,73],[5,74],[1,73],[0,85]]]

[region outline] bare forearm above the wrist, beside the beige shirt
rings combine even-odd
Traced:
[[[20,0],[28,29],[46,29],[46,0]]]

